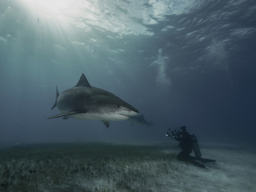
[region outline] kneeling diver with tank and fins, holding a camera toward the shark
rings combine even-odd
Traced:
[[[177,159],[179,161],[193,163],[194,165],[202,168],[205,168],[205,166],[203,164],[200,164],[198,161],[201,161],[203,163],[216,162],[216,160],[201,158],[202,155],[198,146],[197,138],[194,134],[188,134],[186,132],[186,126],[181,126],[178,132],[176,131],[176,129],[175,131],[171,131],[170,129],[168,129],[167,131],[166,137],[170,137],[168,132],[171,131],[172,138],[174,138],[176,141],[180,141],[180,144],[178,146],[181,147],[182,151],[177,155]],[[196,157],[190,156],[193,148]]]

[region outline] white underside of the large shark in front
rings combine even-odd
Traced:
[[[66,113],[64,111],[60,111],[61,113]],[[98,113],[79,113],[75,115],[69,115],[69,117],[80,120],[107,120],[107,121],[122,121],[126,120],[129,117],[120,114],[98,114]]]

